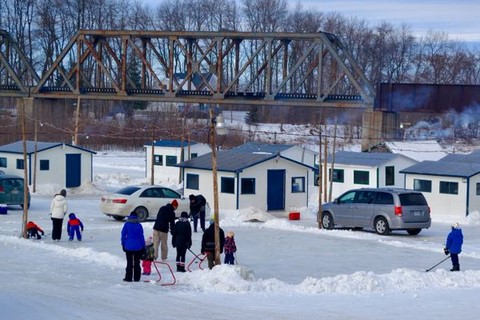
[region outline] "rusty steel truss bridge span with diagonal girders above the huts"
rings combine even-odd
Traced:
[[[80,30],[43,74],[31,61],[0,30],[0,97],[370,108],[375,95],[324,32]]]

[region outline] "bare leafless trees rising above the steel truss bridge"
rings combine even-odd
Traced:
[[[286,0],[0,0],[0,29],[40,74],[79,29],[318,32],[338,35],[374,84],[479,84],[480,49],[441,30],[417,38],[407,25],[289,9]]]

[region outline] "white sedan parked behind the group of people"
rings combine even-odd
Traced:
[[[100,203],[102,213],[115,220],[123,220],[135,211],[140,221],[155,219],[160,207],[178,201],[175,215],[180,217],[182,211],[190,213],[190,201],[180,193],[166,187],[145,185],[128,186],[115,193],[104,195]]]

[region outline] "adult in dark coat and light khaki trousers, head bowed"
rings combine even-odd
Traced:
[[[162,261],[168,257],[168,231],[175,227],[175,210],[178,208],[177,200],[173,199],[158,210],[157,218],[153,225],[153,249],[155,260],[158,258],[158,247],[161,248]]]

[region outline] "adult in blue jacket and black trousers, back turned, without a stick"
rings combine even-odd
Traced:
[[[123,281],[131,282],[132,279],[133,281],[140,281],[142,276],[140,258],[145,250],[145,236],[135,212],[130,213],[127,222],[123,225],[121,241],[123,252],[125,252],[127,258]]]

